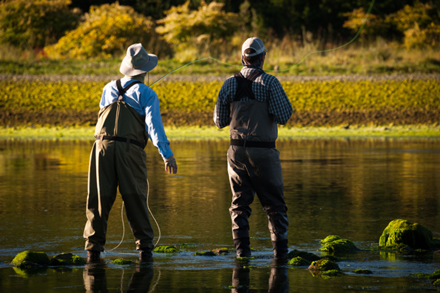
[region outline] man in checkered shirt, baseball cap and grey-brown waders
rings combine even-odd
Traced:
[[[256,192],[269,219],[275,257],[287,253],[287,207],[284,202],[279,151],[275,149],[278,124],[286,124],[292,105],[276,77],[262,69],[263,41],[249,38],[242,45],[244,67],[220,89],[214,110],[217,127],[229,125],[227,152],[231,182],[232,236],[237,256],[250,256],[249,205]]]

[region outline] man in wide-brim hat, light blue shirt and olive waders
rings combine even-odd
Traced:
[[[84,228],[89,260],[104,251],[107,219],[116,198],[116,189],[125,203],[139,256],[151,256],[153,229],[147,212],[147,165],[143,148],[150,137],[165,161],[165,170],[177,172],[169,147],[156,93],[143,83],[145,75],[158,64],[142,44],[133,44],[121,63],[125,77],[111,81],[103,89],[90,154],[88,197]]]

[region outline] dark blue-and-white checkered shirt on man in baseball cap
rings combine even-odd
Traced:
[[[287,98],[286,92],[284,92],[279,80],[256,66],[245,66],[240,72],[244,77],[249,77],[254,70],[262,72],[252,83],[252,91],[255,98],[260,102],[269,103],[269,113],[272,115],[272,120],[275,123],[286,124],[292,115],[292,104]],[[214,122],[218,128],[224,128],[231,122],[230,104],[234,101],[237,86],[235,77],[230,77],[220,89],[214,109]],[[240,101],[248,100],[249,98],[246,95],[240,99]]]

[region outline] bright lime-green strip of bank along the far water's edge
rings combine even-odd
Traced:
[[[80,139],[93,140],[93,127],[21,127],[0,128],[0,139]],[[165,127],[170,141],[229,139],[228,128]],[[279,139],[362,139],[362,138],[432,138],[440,139],[440,126],[364,126],[364,127],[279,127]]]

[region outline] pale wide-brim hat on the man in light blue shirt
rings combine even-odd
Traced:
[[[148,54],[142,44],[132,44],[121,62],[119,71],[126,76],[135,76],[152,70],[158,65],[158,56]]]

